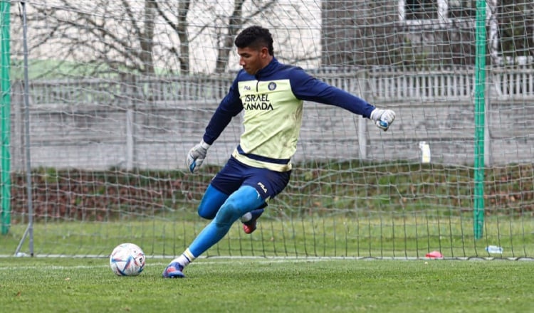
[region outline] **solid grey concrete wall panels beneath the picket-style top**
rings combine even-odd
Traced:
[[[33,168],[184,169],[187,151],[204,132],[218,100],[115,104],[36,103],[29,105],[26,145],[21,86],[14,86],[11,120],[12,169],[26,166],[26,147]],[[31,98],[33,99],[33,98]],[[397,112],[388,132],[370,120],[338,107],[305,103],[294,162],[340,159],[375,161],[421,158],[419,142],[430,145],[431,161],[473,164],[473,99],[382,99],[378,107]],[[534,99],[486,101],[486,165],[533,160]],[[224,164],[239,142],[236,117],[209,151],[209,164]]]

